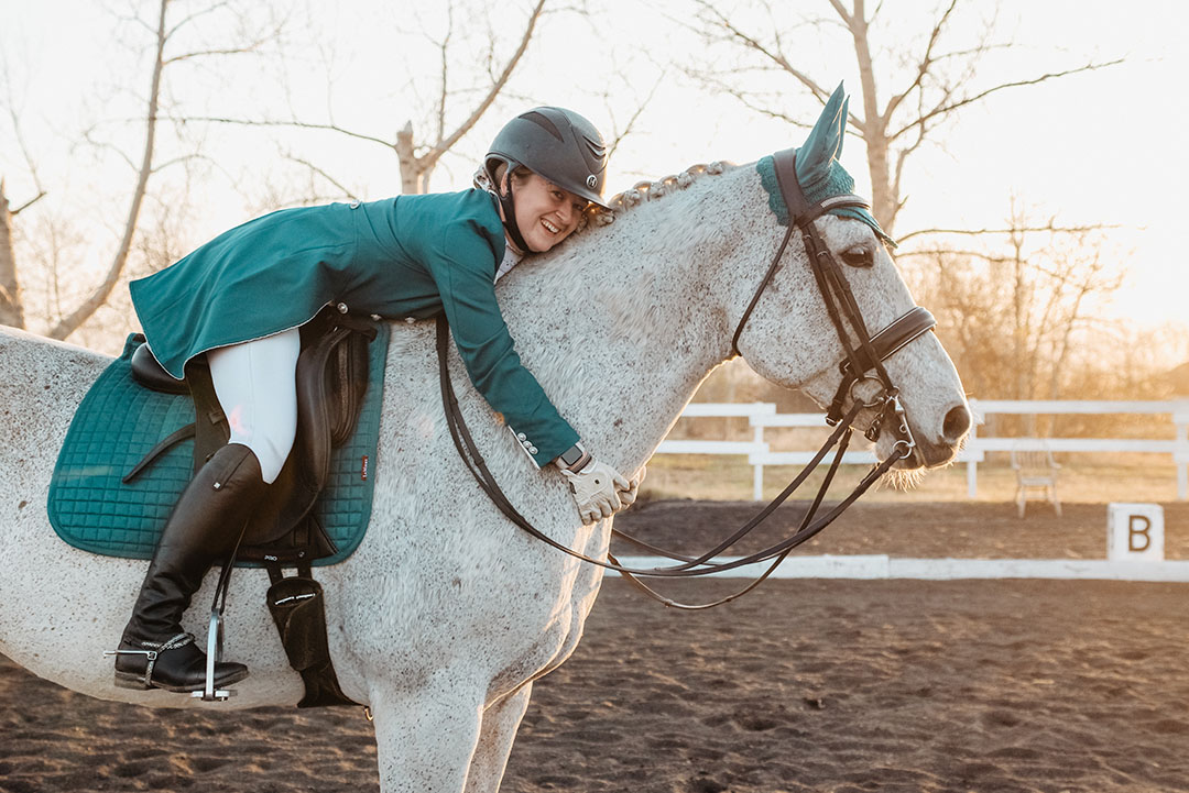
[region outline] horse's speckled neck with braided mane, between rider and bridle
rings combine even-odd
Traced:
[[[721,230],[694,212],[673,228],[680,212],[646,209],[526,262],[501,292],[526,364],[596,456],[624,471],[647,462],[728,347],[707,275],[722,246],[704,243]]]

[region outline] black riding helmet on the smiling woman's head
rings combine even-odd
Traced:
[[[606,145],[594,125],[573,110],[539,107],[522,113],[504,125],[483,158],[484,171],[496,185],[503,204],[509,236],[518,248],[527,250],[516,226],[511,183],[507,195],[499,192],[496,169],[501,163],[507,163],[509,173],[523,165],[559,188],[606,208],[603,199]]]

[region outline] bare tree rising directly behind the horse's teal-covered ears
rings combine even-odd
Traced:
[[[825,11],[826,5],[829,11]],[[872,211],[889,234],[905,203],[901,178],[906,163],[960,110],[1000,91],[1119,63],[1087,63],[988,83],[979,69],[983,56],[1008,44],[993,38],[994,26],[990,25],[975,42],[955,42],[951,46],[951,38],[956,38],[951,32],[957,0],[938,9],[933,18],[920,20],[920,30],[927,31],[927,34],[916,44],[913,52],[904,56],[905,63],[899,68],[888,63],[876,65],[877,18],[881,12],[898,13],[899,7],[894,4],[885,7],[879,2],[868,12],[866,0],[851,0],[849,6],[843,0],[822,0],[825,15],[794,18],[788,12],[788,4],[781,4],[778,9],[768,0],[757,0],[751,7],[757,7],[767,21],[767,26],[755,24],[757,30],[736,19],[742,14],[725,8],[718,0],[697,0],[697,6],[696,30],[709,45],[725,45],[732,50],[737,63],[688,68],[688,74],[706,85],[729,93],[757,113],[799,126],[804,120],[788,116],[775,104],[772,94],[765,94],[756,87],[765,84],[763,78],[776,77],[780,85],[793,85],[824,103],[833,89],[832,78],[816,78],[798,51],[806,43],[816,43],[823,37],[836,37],[843,45],[849,43],[855,52],[861,91],[858,107],[850,107],[849,125],[867,146]],[[892,85],[886,89],[887,94],[880,90],[876,81],[877,68],[881,83]]]

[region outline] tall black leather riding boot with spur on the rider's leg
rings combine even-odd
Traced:
[[[174,507],[149,563],[115,656],[115,685],[201,691],[207,656],[182,630],[182,614],[215,562],[232,552],[268,489],[251,449],[227,444],[199,469]],[[247,677],[243,664],[215,665],[214,686]]]

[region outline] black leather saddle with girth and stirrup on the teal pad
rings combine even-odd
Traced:
[[[232,565],[260,562],[272,585],[266,602],[289,664],[302,677],[306,696],[298,708],[358,705],[339,687],[326,635],[326,610],[321,585],[314,581],[310,562],[333,556],[338,548],[313,510],[331,474],[332,449],[348,439],[359,419],[369,381],[367,344],[376,338],[369,319],[323,309],[301,328],[302,351],[297,359],[297,436],[294,449],[268,496],[245,528],[239,548],[227,559],[220,576],[212,615],[208,646],[221,646],[220,594],[226,598]],[[172,445],[194,438],[196,472],[231,436],[227,418],[215,396],[206,360],[187,364],[185,379],[174,380],[141,343],[132,353],[132,379],[139,385],[172,394],[189,393],[195,421],[172,432],[124,477],[131,482]],[[283,566],[297,567],[285,577]],[[208,659],[213,664],[214,655]],[[210,671],[208,667],[208,678]],[[210,698],[227,694],[209,690]],[[207,698],[207,697],[205,697]]]

